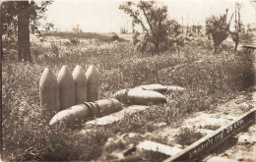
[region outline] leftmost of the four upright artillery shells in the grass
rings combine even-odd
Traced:
[[[47,112],[59,111],[59,88],[56,76],[50,67],[44,69],[39,83],[40,106]],[[44,113],[44,111],[42,111]]]

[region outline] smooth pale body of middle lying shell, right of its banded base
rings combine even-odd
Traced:
[[[127,93],[129,101],[133,104],[147,105],[166,102],[166,98],[160,92],[142,89],[130,89]]]

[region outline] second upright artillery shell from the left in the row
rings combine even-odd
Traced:
[[[59,71],[57,81],[59,83],[60,110],[75,105],[75,84],[68,66],[63,66]]]

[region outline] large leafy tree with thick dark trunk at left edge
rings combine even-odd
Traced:
[[[1,23],[3,35],[18,35],[19,60],[32,62],[30,49],[30,31],[34,33],[38,30],[38,22],[44,17],[46,8],[51,1],[33,0],[24,1],[4,1],[1,3]]]

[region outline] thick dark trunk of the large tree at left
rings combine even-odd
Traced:
[[[32,62],[30,49],[30,17],[29,1],[18,1],[18,46],[19,60]]]

